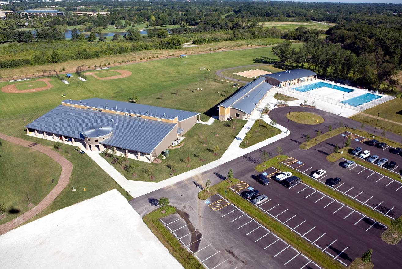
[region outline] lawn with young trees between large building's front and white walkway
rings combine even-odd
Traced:
[[[170,173],[175,176],[219,159],[244,124],[246,124],[245,120],[232,120],[230,122],[215,120],[211,125],[196,124],[184,134],[185,139],[182,147],[169,149],[169,156],[166,159],[162,159],[160,156],[162,163],[158,164],[132,159],[128,159],[126,163],[113,164],[111,162],[114,155],[104,158],[129,180],[158,182],[169,178]],[[213,152],[216,145],[219,150]],[[134,165],[132,172],[124,170],[126,164]],[[173,169],[169,168],[172,164]]]

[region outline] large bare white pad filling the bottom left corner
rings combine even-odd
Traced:
[[[1,268],[183,268],[116,190],[0,236]]]

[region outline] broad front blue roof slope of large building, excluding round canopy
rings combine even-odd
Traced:
[[[81,132],[93,126],[113,128],[111,137],[100,142],[101,144],[144,153],[152,153],[164,137],[172,129],[177,128],[176,123],[146,120],[63,105],[50,110],[27,124],[26,127],[45,131],[49,134],[54,133],[84,139]]]

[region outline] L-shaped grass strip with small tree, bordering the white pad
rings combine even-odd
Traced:
[[[165,211],[162,214],[162,210]],[[186,269],[204,269],[203,265],[188,252],[182,244],[171,234],[159,219],[176,213],[176,208],[170,205],[158,208],[145,215],[142,219],[154,235],[162,242],[176,260]]]

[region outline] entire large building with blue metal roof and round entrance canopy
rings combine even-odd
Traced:
[[[27,134],[82,143],[86,149],[123,152],[152,161],[197,123],[197,112],[108,99],[64,100],[27,124]]]

